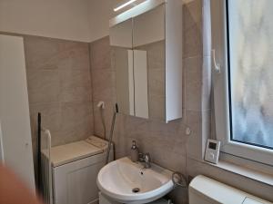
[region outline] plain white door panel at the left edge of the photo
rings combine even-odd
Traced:
[[[0,35],[0,156],[35,189],[22,37]]]

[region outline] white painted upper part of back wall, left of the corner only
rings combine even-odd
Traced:
[[[89,2],[0,0],[0,31],[90,42]]]

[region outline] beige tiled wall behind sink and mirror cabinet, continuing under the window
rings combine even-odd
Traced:
[[[203,18],[204,2],[208,1],[193,0],[183,6],[183,119],[165,124],[118,114],[114,135],[116,158],[128,155],[131,141],[136,140],[140,151],[150,152],[152,160],[163,167],[192,177],[203,174],[258,197],[273,200],[272,186],[203,161],[207,135],[214,134],[215,128],[213,120],[210,120],[210,48],[207,41],[203,42],[206,31],[203,26],[207,24]],[[113,102],[116,101],[109,39],[102,38],[90,46],[91,69],[92,73],[96,73],[92,79],[99,78],[99,83],[103,83],[100,86],[93,83],[93,89],[99,93],[96,94],[96,101],[106,100],[109,132]],[[94,120],[95,132],[101,135],[98,114],[95,114]],[[186,134],[187,127],[191,130],[190,135]],[[178,204],[187,203],[186,189],[175,189],[171,198]]]

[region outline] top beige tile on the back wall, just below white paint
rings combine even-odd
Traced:
[[[29,35],[24,35],[24,41],[27,69],[89,67],[88,64],[81,63],[89,59],[88,44]]]

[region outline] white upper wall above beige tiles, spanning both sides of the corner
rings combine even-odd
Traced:
[[[126,1],[0,0],[0,31],[93,42],[109,34],[109,19],[130,8],[113,11]]]

